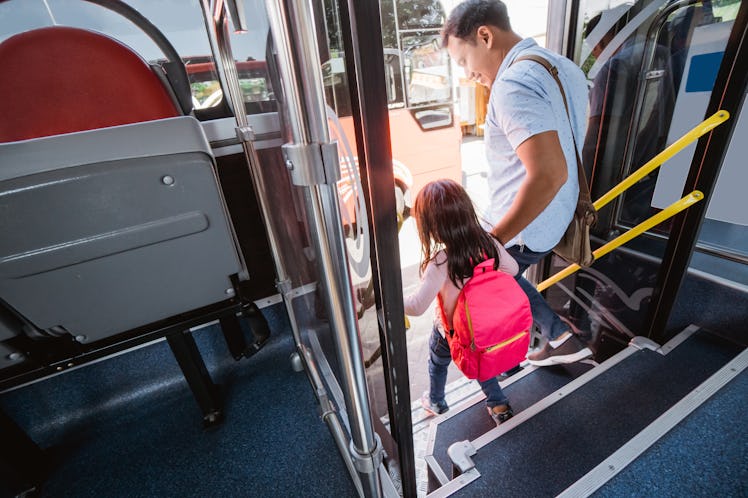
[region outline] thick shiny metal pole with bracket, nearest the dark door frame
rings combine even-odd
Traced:
[[[381,496],[381,444],[373,430],[337,196],[338,154],[330,144],[311,3],[266,0],[291,127],[284,146],[296,185],[305,187],[320,284],[335,338],[350,417],[350,451],[365,496]],[[291,29],[293,27],[293,29]]]

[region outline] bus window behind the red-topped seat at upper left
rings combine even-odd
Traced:
[[[247,9],[257,15],[247,16],[250,19],[247,33],[232,34],[232,50],[237,59],[247,112],[271,112],[277,106],[265,64],[268,36],[265,6],[261,0],[247,3],[250,4]],[[132,0],[129,4],[163,32],[180,54],[187,68],[196,116],[200,119],[228,116],[199,0]],[[151,63],[163,60],[164,54],[142,31],[97,5],[62,0],[11,1],[0,5],[0,13],[3,8],[11,7],[14,9],[12,18],[0,15],[0,40],[27,29],[61,24],[110,33],[144,60]]]

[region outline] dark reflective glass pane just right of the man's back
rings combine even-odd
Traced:
[[[650,33],[657,2],[621,3],[589,12],[582,67],[590,82],[588,130],[582,162],[592,197],[638,169],[667,146],[675,99],[672,54]],[[696,124],[696,123],[694,123]],[[621,198],[617,218],[603,226],[633,226],[653,215],[656,172]]]

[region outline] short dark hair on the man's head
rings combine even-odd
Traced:
[[[502,31],[511,31],[506,5],[499,0],[465,0],[454,8],[442,28],[442,46],[449,37],[474,42],[473,35],[481,26],[494,26]]]

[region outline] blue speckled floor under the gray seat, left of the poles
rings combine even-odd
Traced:
[[[165,342],[0,396],[51,459],[41,496],[354,496],[309,381],[291,368],[290,331],[273,328],[255,356],[218,368],[209,360],[225,348],[220,334],[194,335],[222,389],[214,429],[203,429],[184,379],[168,380],[179,370]]]

